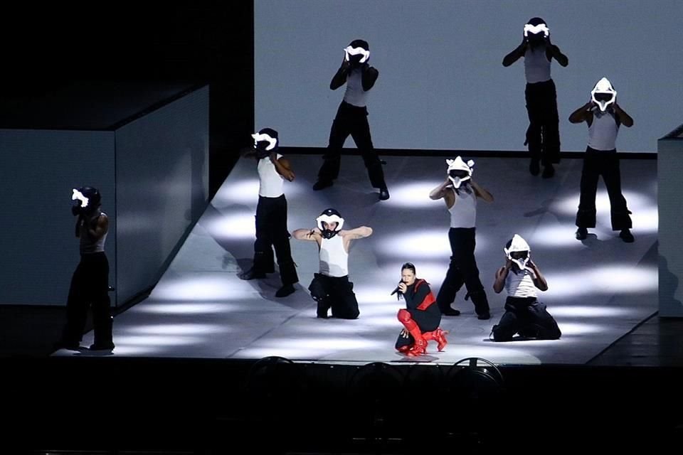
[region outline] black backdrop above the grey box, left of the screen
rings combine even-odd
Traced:
[[[213,196],[254,128],[253,35],[253,1],[2,6],[0,97],[20,103],[78,80],[209,83]]]

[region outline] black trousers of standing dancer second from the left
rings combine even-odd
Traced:
[[[277,198],[258,197],[254,242],[255,273],[267,273],[275,269],[272,247],[275,247],[282,284],[298,282],[299,277],[290,248],[290,232],[287,231],[287,199],[284,194]]]

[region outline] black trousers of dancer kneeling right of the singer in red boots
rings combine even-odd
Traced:
[[[493,326],[493,339],[512,341],[516,333],[539,340],[556,340],[562,336],[557,322],[536,297],[508,297],[505,301],[505,314]]]

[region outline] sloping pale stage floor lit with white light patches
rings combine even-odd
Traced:
[[[465,287],[453,306],[458,317],[443,318],[449,344],[439,353],[431,342],[418,359],[396,353],[401,330],[396,312],[404,303],[390,292],[403,262],[436,294],[448,269],[448,212],[443,200],[428,198],[445,178],[437,157],[384,159],[391,193],[379,201],[360,156],[343,156],[332,188],[311,189],[319,156],[290,155],[297,178],[285,182],[290,231],[312,228],[324,208],[337,208],[345,228],[368,225],[374,234],[352,243],[349,275],[361,316],[354,321],[317,319],[307,291],[317,272],[314,242],[291,240],[298,265],[297,291],[277,299],[277,273],[243,281],[238,273],[253,257],[253,215],[258,194],[254,161],[240,161],[179,250],[148,299],[115,318],[116,356],[258,359],[279,355],[324,363],[455,363],[480,357],[497,364],[582,364],[608,348],[657,311],[657,161],[621,161],[623,193],[632,211],[636,241],[625,244],[610,230],[609,203],[598,184],[598,228],[587,240],[574,238],[581,178],[580,159],[564,159],[554,178],[529,174],[528,160],[475,159],[473,178],[494,196],[480,200],[477,265],[492,319],[476,318]],[[455,156],[453,157],[455,158]],[[489,333],[504,310],[505,293],[492,291],[494,272],[504,264],[502,248],[514,233],[531,245],[531,257],[546,275],[539,291],[563,333],[558,341],[494,343]],[[92,342],[92,333],[83,346]],[[55,355],[102,355],[60,350]]]

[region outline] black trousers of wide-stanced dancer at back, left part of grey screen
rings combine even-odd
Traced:
[[[386,188],[382,164],[379,161],[377,152],[372,145],[372,138],[370,137],[368,109],[366,107],[349,105],[349,103],[344,101],[339,105],[337,117],[332,122],[327,153],[323,156],[324,163],[318,172],[319,181],[333,181],[339,176],[339,166],[342,162],[342,147],[349,134],[354,138],[356,147],[361,151],[372,186],[374,188]]]

